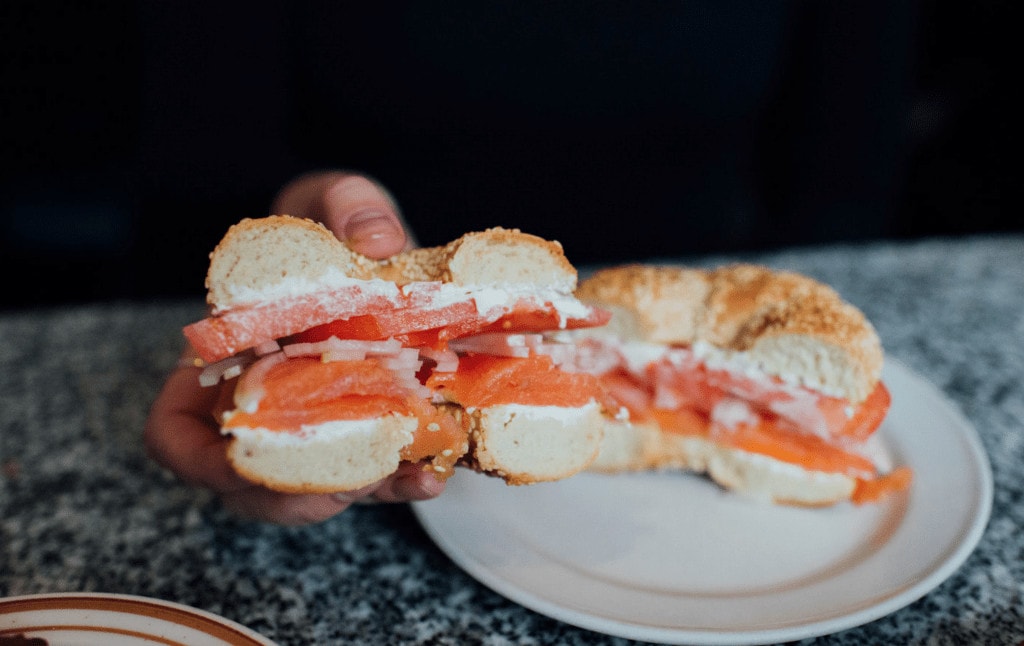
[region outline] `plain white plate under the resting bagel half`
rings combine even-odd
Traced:
[[[756,503],[680,473],[507,486],[458,473],[414,505],[457,564],[542,614],[662,643],[758,644],[835,633],[924,596],[974,550],[992,476],[970,423],[889,361],[879,430],[910,490],[877,504]]]

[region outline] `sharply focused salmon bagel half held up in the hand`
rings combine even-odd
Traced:
[[[560,365],[543,333],[607,321],[573,295],[561,246],[517,229],[467,233],[386,260],[325,226],[274,215],[232,225],[186,326],[245,478],[289,492],[352,490],[419,463],[510,484],[596,459],[602,387]]]

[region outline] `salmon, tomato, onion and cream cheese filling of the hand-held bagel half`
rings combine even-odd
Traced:
[[[557,417],[602,400],[600,380],[570,372],[565,344],[541,333],[603,325],[603,310],[515,286],[378,284],[386,282],[275,294],[187,327],[212,361],[201,382],[239,378],[222,431],[305,441],[408,417],[417,428],[401,459],[428,460],[446,477],[469,449],[464,411],[510,404]],[[338,311],[346,315],[325,320]]]

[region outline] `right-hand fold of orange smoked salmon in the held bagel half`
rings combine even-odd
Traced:
[[[464,407],[522,403],[535,406],[582,406],[603,396],[600,381],[586,373],[566,373],[551,358],[467,354],[454,373],[434,373],[427,387]]]

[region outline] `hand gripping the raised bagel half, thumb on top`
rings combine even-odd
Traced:
[[[271,212],[324,222],[350,248],[371,258],[386,258],[413,246],[394,201],[360,175],[332,171],[299,177],[281,190]],[[443,482],[408,463],[380,482],[337,494],[282,493],[245,480],[227,462],[228,438],[220,434],[213,416],[233,384],[201,386],[193,356],[190,349],[185,351],[150,411],[146,450],[184,482],[218,494],[232,513],[279,524],[307,524],[357,502],[427,500],[443,491]]]

